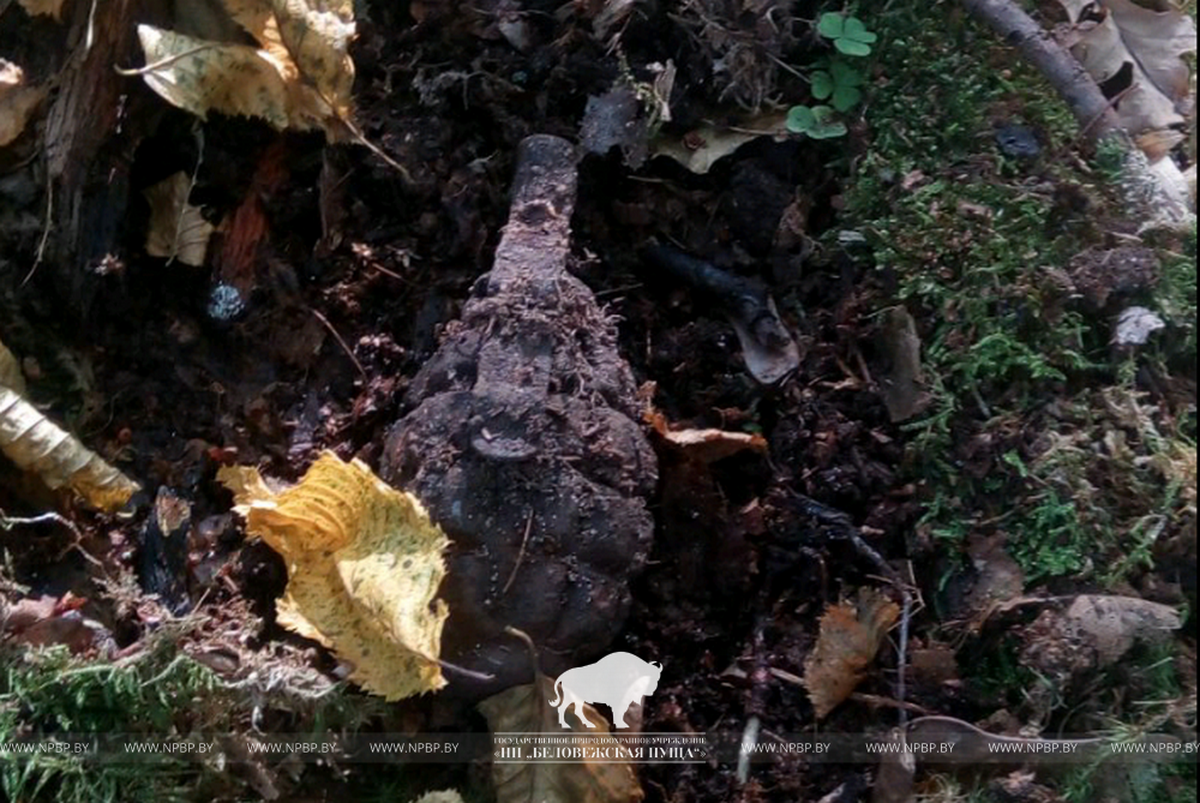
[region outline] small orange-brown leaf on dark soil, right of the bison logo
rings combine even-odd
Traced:
[[[900,606],[871,588],[858,591],[858,603],[826,609],[816,647],[804,661],[804,688],[824,719],[851,695],[883,646]]]

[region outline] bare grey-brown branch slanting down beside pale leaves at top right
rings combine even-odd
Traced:
[[[1000,34],[1054,86],[1079,121],[1080,136],[1098,142],[1122,131],[1112,103],[1082,65],[1012,0],[962,0],[979,22]]]

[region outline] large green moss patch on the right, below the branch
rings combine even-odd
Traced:
[[[1116,583],[1147,568],[1152,517],[1178,510],[1147,466],[1194,443],[1194,419],[1178,417],[1157,442],[1127,432],[1128,453],[1097,460],[1114,420],[1092,391],[1132,388],[1156,359],[1164,371],[1194,366],[1194,232],[1160,251],[1163,280],[1145,299],[1172,336],[1116,355],[1111,322],[1073,305],[1055,277],[1102,242],[1097,218],[1120,216],[1110,181],[1122,155],[1074,155],[1078,128],[1054,90],[956,4],[889,4],[868,22],[880,32],[871,139],[844,226],[868,238],[881,277],[919,323],[932,401],[902,426],[928,505],[919,526],[961,544],[992,522],[1031,582],[1100,565]],[[1006,157],[994,142],[1001,124],[1034,131],[1040,156]],[[1091,209],[1070,208],[1062,188]],[[1075,420],[1045,414],[1056,406],[1078,409]],[[1064,426],[1070,448],[1043,459]],[[986,471],[964,471],[989,450]]]

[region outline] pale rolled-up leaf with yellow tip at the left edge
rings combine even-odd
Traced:
[[[0,388],[0,451],[50,490],[70,487],[97,510],[119,510],[139,487],[11,388]]]

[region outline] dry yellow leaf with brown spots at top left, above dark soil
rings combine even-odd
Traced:
[[[139,25],[150,89],[202,119],[259,116],[280,130],[342,137],[354,83],[350,0],[226,0],[226,7],[259,47]]]

